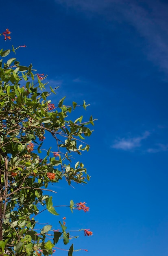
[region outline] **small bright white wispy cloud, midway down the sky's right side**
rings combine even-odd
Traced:
[[[132,138],[119,138],[114,141],[111,148],[121,149],[121,150],[133,150],[141,146],[142,140],[146,139],[150,135],[150,132],[146,131],[142,136],[132,137]]]

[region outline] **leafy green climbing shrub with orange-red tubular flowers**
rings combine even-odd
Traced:
[[[7,40],[11,39],[9,34],[6,29],[0,35]],[[12,46],[14,53],[16,49]],[[46,191],[51,191],[49,183],[57,184],[63,177],[69,185],[72,181],[89,180],[83,163],[78,161],[73,166],[71,156],[89,150],[89,145],[83,146],[81,140],[92,134],[88,125],[94,125],[94,120],[92,116],[83,123],[82,116],[69,120],[68,114],[78,107],[77,103],[65,106],[65,97],[58,106],[51,103],[50,94],[55,94],[57,88],[50,87],[47,92],[43,83],[46,76],[36,73],[32,64],[26,67],[13,57],[6,60],[4,57],[10,52],[0,50],[0,255],[51,255],[59,238],[65,245],[69,242],[65,221],[59,222],[61,231],[51,232],[52,226],[46,225],[37,234],[35,216],[40,213],[39,204],[59,215],[52,196],[46,195]],[[86,109],[85,101],[83,108]],[[47,134],[52,135],[57,147],[54,151],[47,149],[44,156],[41,147]],[[71,211],[89,209],[85,202],[74,204],[72,200],[68,207]],[[46,240],[48,232],[52,239]],[[92,235],[87,229],[84,232]],[[73,244],[68,256],[72,252]]]

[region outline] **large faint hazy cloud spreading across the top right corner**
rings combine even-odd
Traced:
[[[146,40],[143,51],[150,61],[168,72],[168,4],[159,0],[55,0],[82,11],[86,17],[101,15],[113,22],[128,22]],[[110,26],[109,26],[110,27]]]

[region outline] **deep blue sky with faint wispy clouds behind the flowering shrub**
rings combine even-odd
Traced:
[[[2,47],[26,44],[17,58],[59,85],[52,103],[85,99],[87,112],[72,117],[98,119],[80,158],[90,182],[52,186],[55,204],[85,201],[89,213],[59,209],[59,217],[45,213],[41,222],[57,229],[66,216],[70,229],[90,228],[92,237],[80,233],[74,241],[88,252],[74,255],[167,256],[167,2],[9,0],[2,9],[1,31],[12,31]]]

